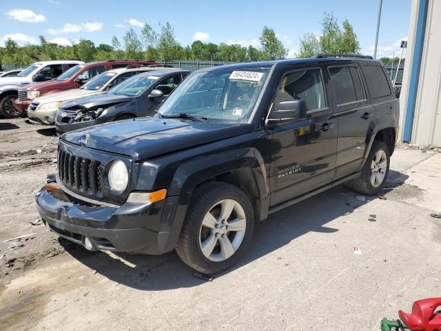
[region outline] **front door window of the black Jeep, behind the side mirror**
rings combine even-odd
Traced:
[[[327,107],[320,69],[299,70],[283,77],[274,101],[292,99],[305,100],[308,111]]]

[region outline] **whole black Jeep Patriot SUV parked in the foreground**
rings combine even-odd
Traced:
[[[272,212],[344,182],[378,193],[397,127],[384,66],[368,57],[198,70],[154,117],[64,134],[37,207],[88,250],[176,249],[212,274]]]

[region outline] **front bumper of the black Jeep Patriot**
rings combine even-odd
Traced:
[[[152,204],[86,205],[70,198],[56,182],[50,184],[37,192],[37,209],[59,237],[88,250],[154,255],[174,250],[183,221],[177,210],[187,197]]]

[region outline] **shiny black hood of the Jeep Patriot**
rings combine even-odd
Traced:
[[[124,154],[133,161],[252,132],[251,124],[209,123],[147,117],[92,126],[62,139],[96,150]]]

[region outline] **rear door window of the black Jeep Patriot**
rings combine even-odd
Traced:
[[[366,99],[356,67],[331,67],[329,74],[338,105]]]

